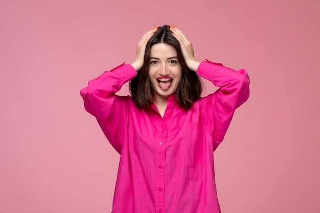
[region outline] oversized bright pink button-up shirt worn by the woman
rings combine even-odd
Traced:
[[[81,90],[111,145],[120,153],[113,213],[220,212],[213,152],[237,107],[249,96],[249,78],[210,61],[197,74],[220,87],[189,110],[175,95],[162,117],[155,105],[136,107],[130,96],[116,96],[137,75],[129,64],[89,81]]]

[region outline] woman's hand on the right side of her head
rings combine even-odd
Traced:
[[[187,36],[179,30],[177,27],[170,26],[170,30],[172,35],[179,41],[181,46],[182,54],[185,57],[187,66],[189,69],[193,71],[197,71],[200,62],[194,58],[194,51],[192,47],[192,43],[189,41]]]

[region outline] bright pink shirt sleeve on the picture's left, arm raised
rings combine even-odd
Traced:
[[[121,153],[128,125],[125,97],[116,96],[121,87],[137,75],[130,64],[121,64],[88,82],[80,94],[86,111],[94,115],[113,148]]]

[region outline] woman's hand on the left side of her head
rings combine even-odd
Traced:
[[[149,30],[142,36],[141,40],[139,41],[138,46],[136,48],[136,52],[135,52],[135,59],[132,63],[130,63],[135,70],[138,71],[141,69],[143,65],[144,57],[145,57],[147,42],[149,41],[151,36],[154,34],[154,32],[157,31],[157,29],[158,27],[155,27],[152,30]]]

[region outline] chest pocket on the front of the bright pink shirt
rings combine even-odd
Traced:
[[[173,145],[174,165],[197,167],[205,163],[205,143],[199,123],[186,123],[179,130]]]

